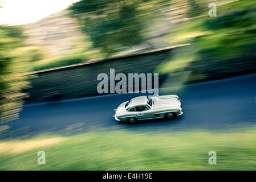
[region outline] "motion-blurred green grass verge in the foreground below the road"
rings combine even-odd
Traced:
[[[40,150],[46,152],[46,165],[37,164]],[[208,164],[212,150],[217,165]],[[255,128],[168,134],[94,131],[1,140],[0,170],[255,170],[255,151]]]

